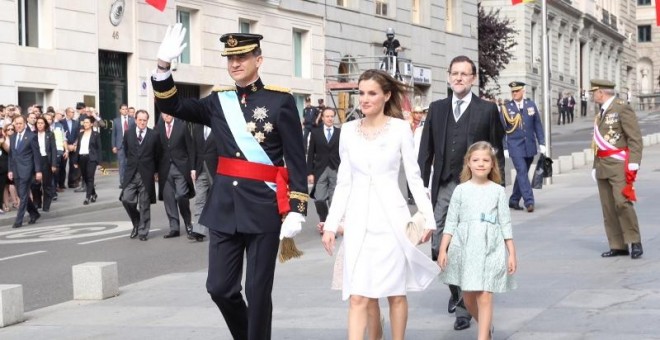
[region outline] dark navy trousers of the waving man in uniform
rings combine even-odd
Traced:
[[[279,235],[225,234],[209,229],[206,290],[238,340],[271,338],[273,277]],[[247,255],[245,297],[241,295],[243,254]],[[249,305],[249,307],[248,307]]]

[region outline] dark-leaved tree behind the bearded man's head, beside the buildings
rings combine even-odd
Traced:
[[[500,18],[500,9],[490,9],[488,13],[481,3],[477,4],[479,34],[479,94],[492,96],[500,93],[497,78],[500,71],[509,64],[513,54],[511,49],[518,45],[515,38],[518,31],[513,29],[509,18]],[[489,90],[486,87],[494,83]]]

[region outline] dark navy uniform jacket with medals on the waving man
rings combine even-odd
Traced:
[[[246,160],[225,118],[243,114],[246,128],[258,140],[273,165],[289,172],[289,206],[292,212],[307,213],[307,169],[303,150],[300,115],[288,90],[264,86],[261,79],[246,88],[217,88],[237,91],[242,112],[225,112],[214,91],[202,99],[179,98],[174,80],[152,78],[156,105],[162,112],[178,118],[210,126],[215,136],[218,156]],[[199,222],[211,229],[234,234],[277,233],[281,216],[275,191],[258,180],[216,175],[213,188]]]

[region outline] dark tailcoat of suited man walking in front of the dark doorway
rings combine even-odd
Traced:
[[[128,129],[124,134],[122,147],[126,153],[126,172],[124,173],[122,187],[126,188],[128,183],[133,179],[133,176],[139,173],[142,183],[149,194],[149,201],[151,204],[156,204],[154,174],[158,172],[158,162],[160,161],[160,139],[156,130],[145,128],[145,131],[142,144],[139,144],[137,141],[135,126]]]

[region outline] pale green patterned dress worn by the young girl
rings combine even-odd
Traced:
[[[502,293],[516,283],[507,274],[505,239],[512,239],[504,188],[494,182],[459,184],[451,196],[445,234],[452,235],[442,281],[463,291]]]

